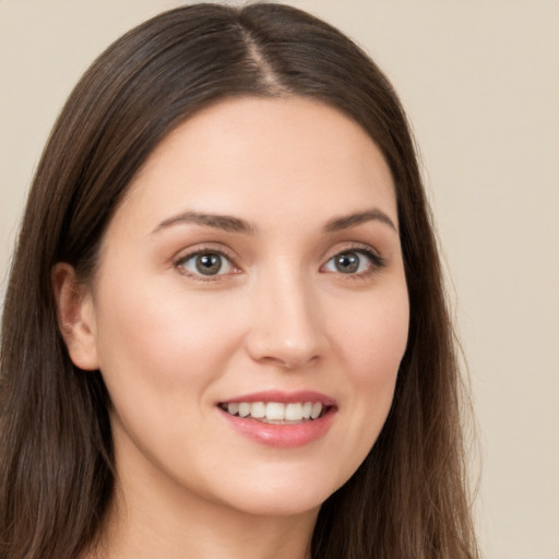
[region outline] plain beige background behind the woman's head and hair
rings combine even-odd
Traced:
[[[0,0],[1,293],[80,74],[164,0]],[[425,159],[481,439],[490,559],[559,559],[559,1],[293,0],[373,56]]]

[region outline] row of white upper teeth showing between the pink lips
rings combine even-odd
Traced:
[[[281,402],[233,402],[222,406],[231,415],[252,417],[264,423],[301,423],[317,419],[322,414],[323,405],[320,402],[295,402],[282,404]]]

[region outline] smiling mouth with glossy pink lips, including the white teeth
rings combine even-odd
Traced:
[[[259,392],[219,402],[218,409],[234,429],[261,444],[296,448],[322,438],[337,406],[311,391]]]

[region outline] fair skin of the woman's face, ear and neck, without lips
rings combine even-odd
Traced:
[[[217,275],[197,272],[200,250],[225,254]],[[394,185],[366,132],[314,100],[221,102],[148,157],[93,282],[63,263],[53,278],[71,358],[100,369],[114,405],[105,556],[310,557],[320,504],[382,428],[407,341]],[[219,402],[272,389],[334,399],[330,429],[278,449],[224,420]]]

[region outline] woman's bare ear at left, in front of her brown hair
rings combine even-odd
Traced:
[[[58,325],[70,359],[80,369],[98,369],[97,329],[91,289],[78,281],[75,270],[66,262],[55,265],[51,280]]]

